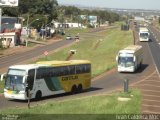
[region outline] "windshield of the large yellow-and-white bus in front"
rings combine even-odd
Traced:
[[[23,78],[25,74],[25,70],[9,69],[5,81],[5,88],[13,91],[24,90]]]

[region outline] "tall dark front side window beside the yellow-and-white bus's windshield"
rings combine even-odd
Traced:
[[[28,71],[27,84],[28,84],[28,88],[30,90],[32,90],[32,88],[33,88],[34,76],[35,76],[35,69],[29,70]]]

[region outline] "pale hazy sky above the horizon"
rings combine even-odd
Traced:
[[[59,5],[160,10],[160,0],[57,0]]]

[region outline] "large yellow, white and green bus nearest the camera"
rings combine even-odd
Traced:
[[[88,60],[40,61],[15,65],[8,69],[4,96],[10,99],[31,99],[66,92],[77,93],[91,86],[91,63]]]

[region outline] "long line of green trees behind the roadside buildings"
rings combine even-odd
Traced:
[[[81,22],[87,24],[87,20],[80,19],[79,15],[98,16],[98,22],[110,23],[118,21],[120,16],[114,12],[105,10],[79,9],[75,6],[60,6],[57,0],[19,0],[18,7],[4,7],[3,16],[23,17],[24,24],[40,19],[34,23],[35,26],[50,23],[52,20],[59,22]],[[39,26],[39,27],[40,27]]]

